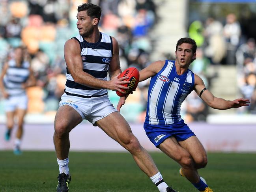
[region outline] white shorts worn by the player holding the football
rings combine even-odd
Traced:
[[[61,97],[60,106],[69,105],[73,107],[82,117],[90,121],[94,126],[96,121],[116,112],[113,104],[110,103],[108,95],[101,97],[81,98],[69,96],[65,93]]]

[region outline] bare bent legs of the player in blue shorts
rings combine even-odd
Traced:
[[[167,138],[159,149],[181,165],[183,174],[191,183],[200,181],[197,169],[206,165],[207,157],[196,136],[179,143],[174,137]]]

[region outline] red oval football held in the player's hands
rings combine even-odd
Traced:
[[[116,91],[116,94],[120,97],[124,97],[134,91],[139,83],[140,79],[140,73],[138,69],[135,67],[129,67],[123,71],[123,73],[120,74],[118,78],[128,76],[129,78],[124,80],[124,81],[130,81],[131,83],[129,84],[122,84],[122,86],[129,87],[130,89],[121,89],[122,91],[125,92],[125,94],[120,93],[119,91]]]

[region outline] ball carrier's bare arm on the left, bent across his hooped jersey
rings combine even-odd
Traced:
[[[92,75],[84,72],[80,53],[80,45],[75,39],[69,39],[66,41],[64,45],[64,57],[67,68],[69,69],[69,72],[75,82],[98,89],[103,88],[118,91],[121,91],[120,88],[125,89],[125,87],[121,85],[126,83],[122,82],[124,79],[126,79],[125,77],[120,79],[117,79],[116,77],[114,83],[112,83],[110,81],[97,79]]]

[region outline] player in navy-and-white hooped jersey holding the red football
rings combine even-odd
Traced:
[[[124,93],[121,89],[129,88],[123,84],[130,82],[123,81],[126,77],[118,79],[121,73],[118,42],[114,37],[99,32],[101,8],[88,3],[78,6],[77,11],[79,35],[66,41],[64,46],[67,82],[54,122],[54,145],[60,170],[57,192],[69,190],[69,132],[83,119],[100,127],[127,149],[159,191],[176,192],[163,181],[148,152],[108,99],[107,89]],[[111,78],[109,81],[107,72]]]

